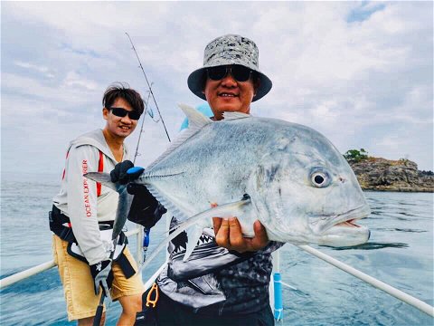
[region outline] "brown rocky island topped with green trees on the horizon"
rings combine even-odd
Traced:
[[[373,158],[366,154],[364,149],[344,154],[363,190],[434,192],[432,171],[420,171],[409,159]]]

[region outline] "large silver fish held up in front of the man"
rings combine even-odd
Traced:
[[[181,108],[189,129],[135,182],[184,221],[165,243],[187,229],[185,258],[203,227],[212,225],[212,216],[237,216],[246,236],[254,235],[252,225],[259,219],[269,240],[297,245],[368,240],[369,230],[354,223],[370,214],[354,172],[316,130],[233,112],[212,121]],[[87,177],[108,185],[108,176]],[[125,222],[127,211],[118,214]]]

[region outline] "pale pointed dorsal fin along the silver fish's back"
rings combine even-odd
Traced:
[[[188,118],[188,129],[183,130],[179,136],[174,140],[170,146],[165,149],[163,154],[161,154],[154,162],[152,162],[146,170],[154,168],[157,163],[165,159],[170,153],[172,153],[175,149],[181,146],[185,140],[192,137],[199,130],[203,129],[208,124],[213,123],[213,121],[203,115],[203,113],[195,110],[194,108],[186,105],[186,104],[178,104],[179,107],[184,111],[185,115]]]

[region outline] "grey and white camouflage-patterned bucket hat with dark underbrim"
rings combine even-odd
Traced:
[[[203,67],[195,70],[188,76],[188,88],[201,99],[206,101],[203,94],[203,82],[206,69],[222,65],[241,64],[250,68],[259,76],[259,89],[252,101],[258,101],[271,90],[272,82],[262,72],[259,72],[259,50],[256,44],[248,39],[235,34],[227,34],[217,37],[208,43],[203,53]]]

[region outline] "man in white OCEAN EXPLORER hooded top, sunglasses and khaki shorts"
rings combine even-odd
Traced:
[[[118,324],[132,325],[136,312],[141,310],[144,288],[123,233],[118,241],[120,254],[110,259],[118,193],[83,174],[110,172],[118,162],[128,158],[124,140],[136,129],[144,103],[137,91],[123,84],[111,85],[102,103],[105,128],[72,140],[67,150],[61,191],[53,198],[50,212],[53,254],[59,266],[69,321],[92,324],[101,287],[122,305]],[[105,315],[102,324],[104,320]]]

